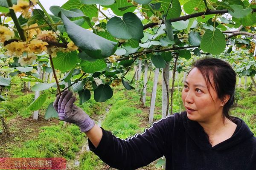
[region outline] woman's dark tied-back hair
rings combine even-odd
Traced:
[[[229,111],[234,102],[236,72],[229,63],[211,57],[198,59],[192,64],[192,69],[195,67],[203,74],[208,90],[209,85],[211,85],[215,89],[219,99],[222,100],[224,95],[230,95],[230,99],[223,107],[222,116],[233,121],[229,115]]]

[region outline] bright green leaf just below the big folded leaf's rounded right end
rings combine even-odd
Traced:
[[[101,72],[105,71],[107,64],[105,59],[97,59],[96,61],[81,61],[80,63],[81,70],[85,73],[94,73],[96,71]]]

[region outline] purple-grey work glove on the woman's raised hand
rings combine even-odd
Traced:
[[[72,92],[64,91],[61,96],[57,96],[53,107],[61,120],[78,125],[82,132],[87,132],[93,128],[95,122],[81,108],[74,105],[76,97],[72,95]]]

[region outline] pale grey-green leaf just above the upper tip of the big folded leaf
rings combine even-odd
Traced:
[[[76,12],[76,11],[70,11],[67,9],[63,9],[60,6],[51,6],[50,11],[52,14],[54,14],[56,17],[58,17],[59,12],[63,13],[66,17],[68,18],[75,18],[75,17],[83,17],[84,13],[81,12]]]

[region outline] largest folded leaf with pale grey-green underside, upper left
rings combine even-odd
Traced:
[[[72,23],[61,14],[65,29],[70,39],[90,57],[100,59],[109,57],[116,51],[118,43],[102,38]]]

